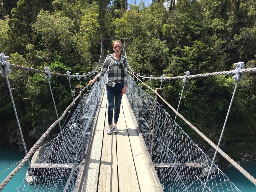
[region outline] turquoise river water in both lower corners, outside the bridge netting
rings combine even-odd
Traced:
[[[13,150],[7,150],[0,147],[0,173],[14,165],[18,161],[22,160],[25,153]],[[241,164],[241,166],[248,171],[254,178],[256,178],[256,162],[251,161]],[[0,175],[0,183],[11,173],[15,167],[7,170]],[[17,188],[22,184],[25,179],[28,165],[23,168],[13,177],[13,179],[6,185],[2,192],[15,192]],[[256,186],[251,183],[246,177],[244,177],[235,168],[228,168],[224,171],[224,174],[241,190],[241,192],[256,192]]]

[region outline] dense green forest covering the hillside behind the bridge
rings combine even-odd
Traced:
[[[0,53],[10,56],[11,64],[35,69],[88,73],[99,61],[102,37],[126,38],[129,65],[146,76],[228,71],[239,61],[245,68],[256,67],[255,0],[153,0],[148,5],[123,0],[0,0],[0,19]],[[236,161],[245,153],[256,159],[255,78],[250,73],[239,82],[220,145]],[[56,120],[48,83],[43,74],[15,69],[9,81],[29,149]],[[77,85],[79,81],[72,81]],[[53,76],[51,86],[62,114],[72,101],[68,81]],[[159,88],[160,82],[151,86]],[[182,87],[180,80],[162,85],[163,97],[174,108]],[[189,79],[179,112],[217,144],[234,87],[232,76]],[[0,91],[0,146],[22,148],[3,76]],[[199,147],[209,150],[186,124],[177,122]]]

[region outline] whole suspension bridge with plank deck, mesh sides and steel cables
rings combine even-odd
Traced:
[[[124,39],[124,55],[125,43]],[[219,148],[238,82],[242,80],[243,74],[255,73],[256,68],[243,69],[243,62],[238,62],[235,64],[236,70],[233,71],[198,75],[189,75],[189,72],[185,72],[185,76],[179,77],[145,77],[137,75],[130,68],[118,122],[120,132],[107,135],[106,76],[95,82],[90,90],[89,85],[82,88],[80,81],[81,77],[86,80],[86,77],[94,75],[103,63],[103,43],[97,67],[83,75],[71,75],[70,72],[54,73],[50,72],[48,67],[43,71],[13,65],[7,59],[8,57],[1,54],[0,68],[2,75],[6,77],[21,136],[19,118],[8,80],[10,68],[45,74],[50,90],[52,75],[67,78],[73,102],[59,117],[51,91],[57,120],[28,152],[22,139],[26,156],[0,184],[0,191],[26,162],[29,164],[28,173],[14,191],[240,191],[215,165],[217,152],[256,185],[256,179]],[[156,79],[160,80],[162,86],[164,80],[180,79],[184,82],[184,89],[190,78],[216,75],[234,75],[233,79],[236,81],[218,145],[178,112],[180,102],[177,110],[174,109],[161,96],[161,89],[154,90],[144,83],[145,79],[150,79],[150,83]],[[78,78],[81,85],[76,88],[75,97],[70,84],[72,77]],[[147,91],[137,85],[138,81],[147,87]],[[156,98],[153,98],[149,91],[153,92]],[[176,113],[174,118],[162,108],[161,102]],[[213,159],[210,159],[176,123],[177,116],[216,150]],[[66,121],[61,126],[60,121],[64,117]],[[55,126],[60,128],[59,135],[45,144],[45,138]],[[29,158],[32,156],[30,161]]]

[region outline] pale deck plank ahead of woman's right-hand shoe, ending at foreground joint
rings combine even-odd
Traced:
[[[119,133],[116,134],[117,160],[121,162],[133,161],[130,140],[124,117],[119,117],[117,129],[119,130]]]

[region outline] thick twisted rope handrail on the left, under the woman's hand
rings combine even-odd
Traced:
[[[84,91],[90,85],[85,86],[82,90]],[[63,114],[57,119],[47,130],[46,132],[40,137],[40,139],[35,143],[35,145],[29,150],[20,164],[3,180],[0,184],[0,191],[7,185],[7,183],[16,175],[16,173],[25,165],[27,160],[31,157],[31,155],[37,150],[38,146],[43,142],[43,140],[49,135],[51,130],[64,118],[68,110],[73,106],[76,100],[82,95],[82,90],[79,92],[79,95],[74,99],[74,101],[65,109]]]

